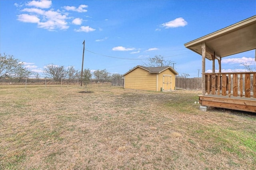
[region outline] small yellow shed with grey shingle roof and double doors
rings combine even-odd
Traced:
[[[170,66],[136,66],[123,75],[124,88],[152,91],[160,91],[161,88],[162,90],[174,90],[177,74]]]

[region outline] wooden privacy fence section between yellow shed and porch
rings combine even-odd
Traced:
[[[176,78],[176,89],[201,90],[202,78]]]

